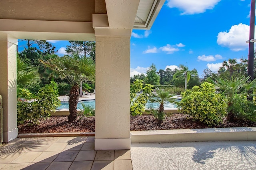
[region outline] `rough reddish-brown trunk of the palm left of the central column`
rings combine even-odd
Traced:
[[[72,122],[76,120],[76,114],[77,114],[77,104],[79,100],[79,86],[72,86],[70,89],[70,95],[69,95],[69,115],[68,115],[68,121]]]

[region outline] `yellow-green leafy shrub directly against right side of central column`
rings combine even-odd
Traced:
[[[143,87],[143,80],[136,79],[132,85],[130,90],[130,113],[131,115],[142,115],[142,113],[145,111],[146,104],[148,102],[148,95],[151,94],[152,85],[151,84],[145,84],[145,87]],[[143,90],[142,94],[137,94]]]

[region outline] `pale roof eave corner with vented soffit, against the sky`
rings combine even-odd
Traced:
[[[150,29],[165,0],[140,0],[133,29]]]

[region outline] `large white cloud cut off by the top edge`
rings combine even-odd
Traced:
[[[181,15],[200,14],[214,8],[221,0],[168,0],[167,6],[184,11]]]

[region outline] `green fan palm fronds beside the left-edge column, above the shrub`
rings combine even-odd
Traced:
[[[18,88],[34,88],[38,85],[40,85],[38,68],[34,67],[28,59],[21,59],[17,56]]]

